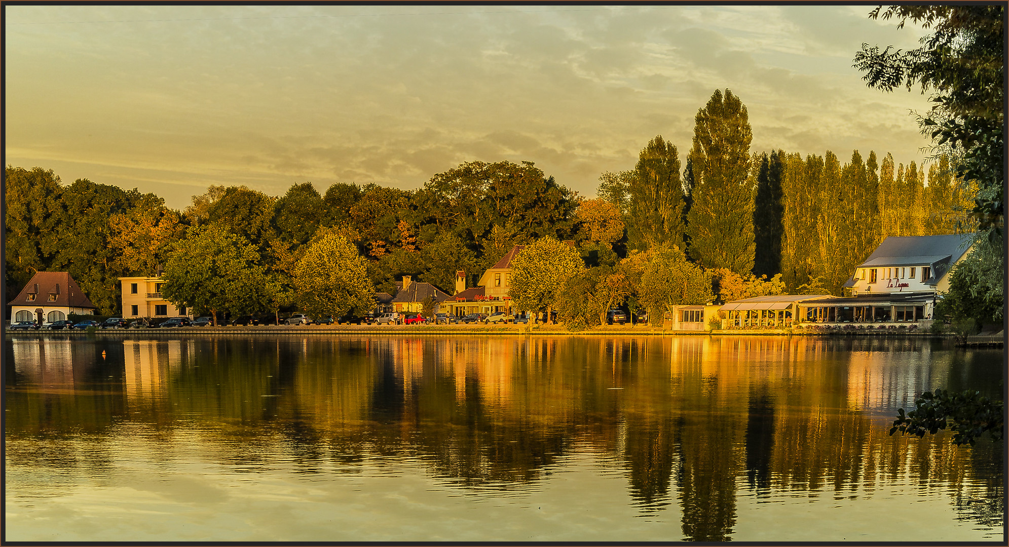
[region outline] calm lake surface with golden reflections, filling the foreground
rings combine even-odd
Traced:
[[[887,435],[1001,349],[127,336],[6,338],[8,541],[1003,539],[1000,445]]]

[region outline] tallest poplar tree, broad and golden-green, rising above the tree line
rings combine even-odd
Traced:
[[[694,122],[690,254],[704,267],[749,274],[754,265],[754,196],[747,180],[753,140],[747,107],[731,91],[722,97],[715,90]]]

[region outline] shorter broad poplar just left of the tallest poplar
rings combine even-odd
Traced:
[[[647,249],[683,238],[683,186],[676,146],[657,135],[638,155],[628,189],[628,241]]]

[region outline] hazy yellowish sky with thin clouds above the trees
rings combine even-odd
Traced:
[[[863,42],[923,31],[874,6],[4,6],[5,162],[137,188],[412,190],[533,161],[594,197],[656,135],[682,163],[715,89],[752,151],[921,163],[920,90],[869,89]]]

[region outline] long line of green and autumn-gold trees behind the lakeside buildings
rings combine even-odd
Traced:
[[[405,275],[450,290],[464,270],[473,286],[523,244],[546,269],[518,262],[516,303],[591,326],[625,303],[661,316],[680,304],[839,295],[886,236],[968,223],[972,189],[945,155],[926,178],[890,153],[856,150],[842,165],[829,150],[752,152],[751,140],[746,106],[716,90],[682,169],[676,145],[656,136],[633,170],[601,175],[594,199],[530,161],[470,161],[415,191],[337,183],[320,194],[300,183],[274,198],[211,186],[175,211],[153,194],[8,166],[7,298],[35,271],[68,270],[115,314],[116,278],[161,275],[165,296],[200,313],[342,314],[395,293]]]

